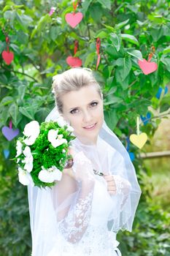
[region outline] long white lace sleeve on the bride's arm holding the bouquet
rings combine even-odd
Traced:
[[[60,233],[72,244],[80,241],[88,227],[95,184],[93,167],[82,152],[74,157],[74,176],[78,184],[77,196],[58,222]]]

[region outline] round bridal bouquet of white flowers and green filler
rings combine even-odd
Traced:
[[[68,154],[73,128],[60,116],[57,121],[37,121],[26,124],[23,137],[18,138],[18,178],[21,184],[37,187],[53,187],[60,181]]]

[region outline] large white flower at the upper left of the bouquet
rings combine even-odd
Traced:
[[[36,138],[39,136],[39,123],[37,121],[31,121],[26,124],[23,134],[27,137],[24,141],[26,145],[30,146],[34,144]]]

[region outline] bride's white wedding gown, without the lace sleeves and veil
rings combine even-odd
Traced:
[[[107,220],[112,209],[112,197],[107,192],[107,183],[96,175],[93,189],[90,222],[79,243],[72,244],[58,234],[56,245],[48,256],[117,256],[116,234],[108,230]]]

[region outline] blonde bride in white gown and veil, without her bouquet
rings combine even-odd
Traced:
[[[103,95],[85,68],[53,77],[56,106],[73,128],[72,165],[50,189],[28,185],[32,256],[116,256],[118,230],[132,229],[141,189],[123,144],[104,121]]]

